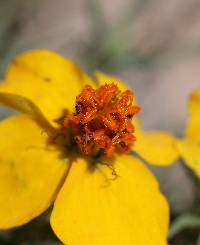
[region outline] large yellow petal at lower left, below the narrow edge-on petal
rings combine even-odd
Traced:
[[[26,116],[0,122],[0,229],[33,219],[49,207],[68,165]]]

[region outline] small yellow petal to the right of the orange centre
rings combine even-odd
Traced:
[[[148,163],[154,165],[169,165],[179,156],[176,148],[176,139],[173,135],[162,131],[145,132],[138,122],[135,126],[136,142],[133,151],[138,153]]]

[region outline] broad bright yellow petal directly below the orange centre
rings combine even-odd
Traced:
[[[166,245],[168,205],[150,171],[131,156],[92,170],[74,162],[58,195],[51,225],[64,244]]]

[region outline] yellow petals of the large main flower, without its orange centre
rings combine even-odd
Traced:
[[[126,88],[102,73],[96,80]],[[86,84],[97,86],[76,64],[47,50],[19,55],[8,66],[0,103],[23,114],[0,122],[0,228],[22,225],[54,204],[51,226],[65,244],[166,245],[168,204],[144,163],[124,154],[92,165],[58,135],[49,143],[55,120],[73,112]],[[145,160],[167,165],[177,158],[172,136],[136,128],[133,150]]]

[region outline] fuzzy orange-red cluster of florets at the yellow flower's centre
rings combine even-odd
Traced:
[[[130,90],[121,92],[117,85],[105,84],[98,89],[86,85],[76,97],[75,112],[64,119],[83,154],[101,151],[108,157],[128,153],[136,140],[133,116],[140,111],[133,105]]]

